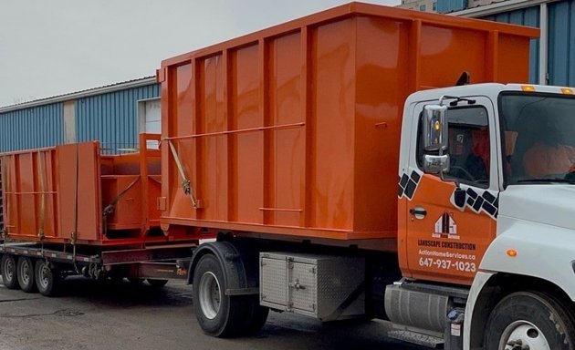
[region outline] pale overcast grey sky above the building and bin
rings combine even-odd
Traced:
[[[162,59],[349,1],[0,0],[0,107],[150,77]]]

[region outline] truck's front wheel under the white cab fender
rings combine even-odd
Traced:
[[[509,294],[489,314],[484,348],[504,350],[520,344],[538,350],[571,349],[575,345],[573,321],[563,310],[543,293]]]

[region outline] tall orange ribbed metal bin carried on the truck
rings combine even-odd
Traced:
[[[162,229],[397,234],[403,102],[527,82],[536,29],[351,3],[162,62]]]

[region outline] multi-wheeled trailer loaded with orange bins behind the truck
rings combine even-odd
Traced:
[[[99,142],[0,156],[4,204],[0,271],[7,288],[52,295],[68,275],[184,278],[205,234],[160,230],[159,150],[142,134],[139,152],[102,155]]]

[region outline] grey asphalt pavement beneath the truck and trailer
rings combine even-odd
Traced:
[[[385,338],[388,329],[381,321],[323,324],[272,312],[259,335],[218,339],[196,323],[192,288],[181,281],[156,290],[74,277],[58,297],[0,283],[1,350],[421,349]]]

